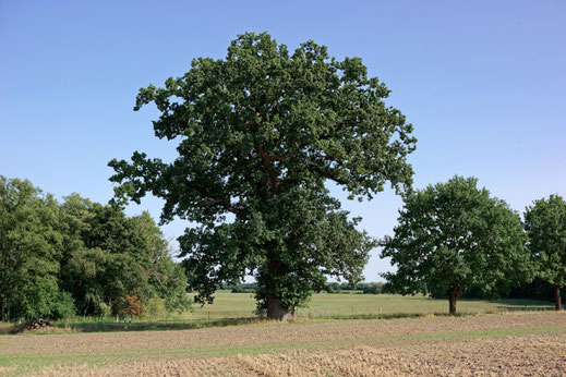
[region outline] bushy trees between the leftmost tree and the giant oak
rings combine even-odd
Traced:
[[[83,314],[101,315],[104,305],[122,314],[131,307],[127,296],[135,296],[136,305],[164,297],[170,312],[190,307],[184,270],[171,259],[168,243],[148,212],[128,218],[119,207],[77,195],[67,197],[62,207],[75,229],[64,283]]]

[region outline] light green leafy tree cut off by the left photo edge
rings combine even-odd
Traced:
[[[57,317],[65,302],[57,273],[62,253],[59,206],[29,181],[0,175],[0,312],[2,320]],[[61,299],[61,300],[60,300]],[[60,313],[61,312],[61,313]]]

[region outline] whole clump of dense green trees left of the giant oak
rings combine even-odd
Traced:
[[[182,311],[185,289],[148,212],[0,175],[0,319]]]

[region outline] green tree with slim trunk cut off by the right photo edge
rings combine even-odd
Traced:
[[[534,200],[525,212],[529,248],[538,275],[554,287],[554,305],[562,309],[561,288],[566,285],[566,202],[558,195]]]

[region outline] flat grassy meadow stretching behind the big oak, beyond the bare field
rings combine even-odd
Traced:
[[[418,317],[426,314],[447,315],[447,300],[435,300],[422,295],[402,296],[398,294],[318,293],[312,296],[308,307],[298,309],[302,319],[356,319]],[[550,302],[537,300],[459,300],[458,314],[473,315],[496,312],[543,312],[554,306]],[[213,304],[194,304],[191,312],[182,314],[146,315],[133,318],[131,325],[115,317],[73,317],[53,323],[61,331],[100,332],[135,330],[181,330],[210,326],[245,325],[261,321],[254,314],[253,293],[231,293],[220,290]],[[12,332],[13,325],[0,323],[0,333]]]

